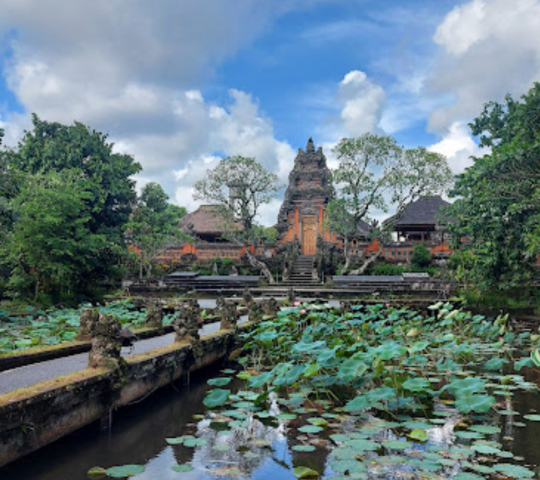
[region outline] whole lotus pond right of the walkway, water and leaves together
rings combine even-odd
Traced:
[[[147,411],[86,436],[100,454],[69,478],[538,478],[539,340],[450,304],[282,310],[245,334],[232,367],[160,407],[159,428]],[[126,432],[145,422],[135,448]],[[76,448],[24,478],[68,478]]]

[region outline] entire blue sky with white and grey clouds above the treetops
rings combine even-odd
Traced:
[[[540,81],[540,0],[0,0],[0,127],[83,122],[193,210],[220,158],[285,184],[309,137],[482,155],[468,123]],[[281,198],[260,221],[276,222]]]

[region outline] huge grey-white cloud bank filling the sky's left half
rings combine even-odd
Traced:
[[[143,165],[139,188],[157,181],[188,208],[216,152],[254,156],[285,179],[294,152],[257,101],[231,89],[216,104],[193,85],[277,16],[318,1],[0,0],[0,39],[10,38],[11,50],[3,76],[26,112],[0,117],[6,143],[28,128],[30,112],[81,121]]]

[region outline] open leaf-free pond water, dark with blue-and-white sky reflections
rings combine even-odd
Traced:
[[[297,452],[291,447],[298,445],[294,438],[295,429],[286,431],[283,427],[269,428],[255,422],[253,435],[261,440],[260,447],[253,440],[237,433],[229,437],[210,428],[208,420],[195,421],[194,415],[204,411],[202,404],[208,385],[206,380],[214,377],[215,371],[207,370],[196,376],[190,386],[177,385],[179,392],[166,387],[162,392],[138,406],[119,414],[112,431],[98,432],[95,426],[81,430],[39,452],[0,469],[2,480],[88,480],[87,471],[92,466],[113,466],[140,464],[146,471],[132,478],[137,480],[161,480],[185,478],[210,480],[227,478],[225,468],[236,467],[242,478],[253,480],[294,479],[292,470],[297,466],[308,466],[326,477],[332,476],[329,450],[316,448],[313,452]],[[195,376],[192,376],[192,379]],[[528,380],[537,380],[534,372],[528,371]],[[540,411],[540,396],[531,392],[516,392],[512,400],[513,408],[522,415]],[[526,427],[515,427],[512,420],[517,416],[500,416],[497,419],[501,432],[491,435],[506,444],[516,456],[524,457],[530,465],[540,465],[540,422],[523,421]],[[447,429],[448,430],[448,429]],[[186,433],[197,433],[207,441],[195,448],[183,445],[169,445],[166,438],[174,438]],[[388,436],[387,429],[379,434]],[[426,450],[430,445],[440,445],[449,438],[444,427],[431,432],[433,440],[422,445]],[[511,436],[513,441],[505,441]],[[228,438],[229,437],[229,438]],[[464,444],[468,442],[462,441]],[[267,443],[271,448],[266,447]],[[250,445],[244,452],[242,445]],[[227,447],[214,448],[217,445]],[[222,449],[223,448],[223,449]],[[252,452],[255,455],[247,455]],[[174,465],[190,463],[195,470],[177,473]],[[212,469],[214,473],[212,474]],[[234,473],[234,472],[233,472]],[[216,475],[217,474],[217,475]]]

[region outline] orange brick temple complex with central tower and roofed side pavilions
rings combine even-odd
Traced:
[[[324,221],[326,208],[334,196],[332,174],[326,157],[322,148],[316,149],[310,138],[305,151],[298,149],[289,174],[289,184],[275,225],[277,244],[261,242],[250,246],[250,251],[266,259],[280,257],[289,247],[306,257],[316,255],[323,246],[341,252],[343,239],[330,232]],[[371,238],[371,226],[364,221],[359,222],[356,235],[351,240],[353,256],[361,259],[380,251],[383,261],[409,262],[418,243],[424,244],[433,256],[450,255],[441,222],[441,208],[447,205],[448,202],[440,196],[422,197],[409,204],[399,218],[394,216],[386,220],[392,222],[396,241],[384,244],[382,249],[379,241]],[[192,240],[170,245],[159,255],[159,259],[165,263],[188,264],[193,261],[212,262],[218,258],[240,262],[245,249],[231,243],[223,235],[224,224],[216,205],[200,206],[180,223],[180,229]]]

